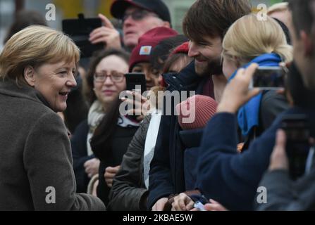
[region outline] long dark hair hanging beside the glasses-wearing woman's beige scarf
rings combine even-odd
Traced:
[[[117,98],[111,104],[111,108],[106,111],[106,115],[95,129],[90,141],[94,155],[101,160],[108,158],[111,154],[113,134],[115,134],[119,117],[119,105],[121,105],[121,99]]]

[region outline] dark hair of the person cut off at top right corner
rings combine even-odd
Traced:
[[[292,11],[292,21],[294,30],[299,37],[299,32],[304,30],[307,34],[311,33],[314,22],[314,13],[311,11],[311,2],[314,0],[290,0],[289,8]]]

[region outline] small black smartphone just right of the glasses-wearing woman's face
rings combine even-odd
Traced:
[[[147,82],[145,80],[145,75],[142,72],[130,72],[125,74],[127,90],[129,91],[139,91],[143,94],[147,91]]]

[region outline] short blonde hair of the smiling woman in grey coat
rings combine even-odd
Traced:
[[[49,27],[32,25],[8,39],[0,54],[0,78],[25,83],[27,65],[37,68],[44,63],[78,63],[80,50],[73,40]]]

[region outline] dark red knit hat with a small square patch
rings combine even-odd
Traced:
[[[129,72],[137,63],[149,62],[152,49],[163,39],[178,35],[178,32],[168,27],[156,27],[144,33],[138,45],[132,50],[129,60]]]

